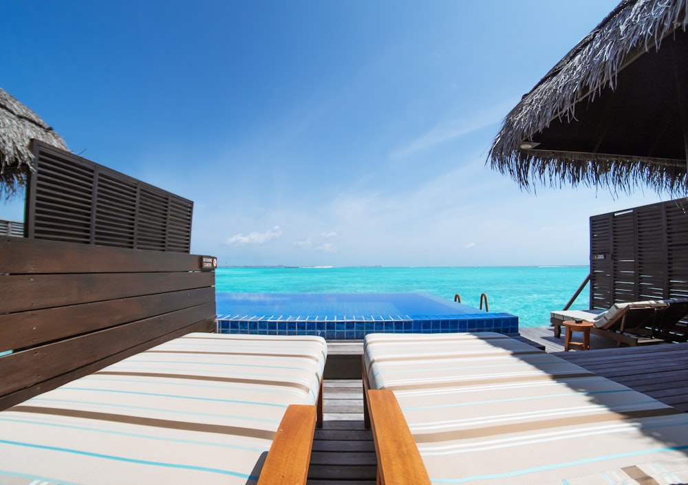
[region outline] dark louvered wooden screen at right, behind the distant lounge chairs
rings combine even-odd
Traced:
[[[688,198],[590,217],[590,305],[688,297]]]

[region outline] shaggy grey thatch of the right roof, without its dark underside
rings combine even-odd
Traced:
[[[553,120],[575,119],[576,104],[594,100],[616,74],[671,32],[686,30],[688,0],[624,0],[526,94],[504,119],[488,153],[492,169],[526,191],[537,185],[608,187],[625,192],[643,184],[658,192],[688,193],[686,164],[655,158],[521,149]]]

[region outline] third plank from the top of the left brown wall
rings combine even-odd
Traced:
[[[0,314],[0,352],[33,347],[213,302],[215,289],[208,287]]]

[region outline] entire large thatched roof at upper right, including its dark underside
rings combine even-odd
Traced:
[[[688,194],[688,0],[624,0],[506,116],[488,155],[522,188]]]

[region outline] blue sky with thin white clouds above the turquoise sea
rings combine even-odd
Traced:
[[[223,266],[585,265],[591,215],[669,197],[534,195],[485,161],[616,3],[11,0],[0,86],[193,200],[191,250]]]

